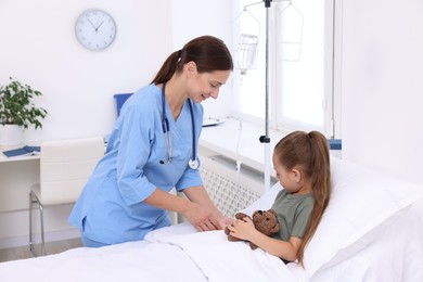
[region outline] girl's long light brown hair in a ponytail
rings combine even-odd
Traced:
[[[285,169],[298,169],[311,184],[315,207],[308,221],[308,229],[299,245],[297,258],[303,265],[304,249],[315,234],[331,197],[331,168],[329,143],[318,132],[294,131],[274,146],[274,155]],[[304,265],[303,265],[304,266]]]

